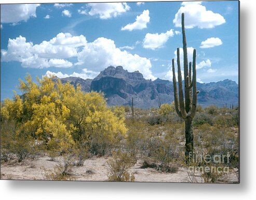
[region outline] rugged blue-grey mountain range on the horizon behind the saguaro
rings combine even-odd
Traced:
[[[134,107],[152,108],[159,104],[172,103],[173,83],[169,80],[157,78],[147,80],[139,71],[128,72],[122,66],[109,66],[94,79],[78,77],[62,78],[62,83],[70,82],[75,87],[79,83],[82,91],[102,91],[107,98],[107,105],[131,105],[133,97]],[[197,82],[197,104],[206,107],[238,105],[238,84],[225,79],[218,82]]]

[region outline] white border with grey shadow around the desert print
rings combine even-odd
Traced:
[[[97,0],[96,0],[97,1]],[[1,0],[3,3],[75,3]],[[88,1],[87,1],[88,2]],[[106,1],[97,1],[106,2]],[[112,0],[112,2],[115,2]],[[240,184],[0,180],[2,199],[253,199],[256,181],[255,1],[240,0]],[[253,197],[254,196],[254,197]],[[253,197],[253,198],[252,198]]]

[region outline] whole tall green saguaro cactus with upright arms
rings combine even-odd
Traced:
[[[193,118],[196,114],[197,93],[196,91],[196,50],[193,51],[193,64],[187,62],[187,47],[186,35],[184,26],[184,13],[181,15],[182,25],[182,40],[183,40],[183,62],[184,62],[184,90],[185,102],[183,97],[183,85],[180,66],[180,49],[177,48],[177,65],[178,65],[178,82],[179,82],[179,97],[177,91],[177,81],[175,76],[174,59],[172,59],[172,74],[173,74],[173,90],[174,104],[179,117],[185,121],[185,157],[186,161],[190,160],[193,155]]]

